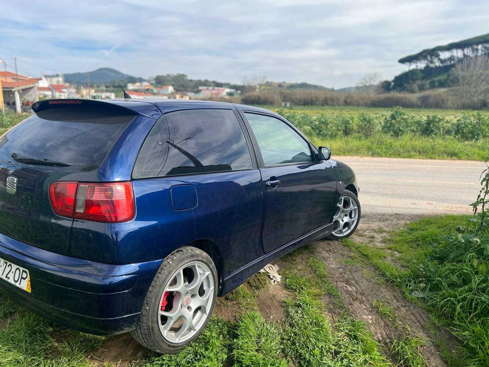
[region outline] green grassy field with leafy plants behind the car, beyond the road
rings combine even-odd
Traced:
[[[333,156],[489,160],[489,112],[345,106],[277,108]],[[0,113],[0,135],[28,115]]]

